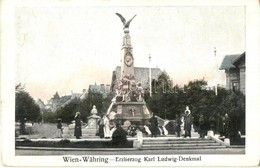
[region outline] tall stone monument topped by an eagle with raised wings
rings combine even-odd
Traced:
[[[123,126],[129,123],[135,126],[144,126],[149,124],[151,114],[146,107],[143,99],[144,91],[140,81],[135,80],[133,47],[129,34],[131,21],[126,22],[125,18],[116,13],[123,22],[123,43],[121,48],[121,77],[117,84],[116,95],[107,110],[110,114],[110,120],[115,120]]]

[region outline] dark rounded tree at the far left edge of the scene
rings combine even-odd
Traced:
[[[25,134],[25,122],[36,122],[41,117],[40,107],[21,84],[15,86],[15,121],[20,122],[21,134]]]

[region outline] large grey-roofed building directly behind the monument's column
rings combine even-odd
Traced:
[[[151,68],[151,77],[157,79],[158,76],[162,73],[160,68]],[[111,92],[115,93],[116,88],[118,87],[118,82],[121,77],[121,67],[117,66],[112,74],[111,81]],[[141,86],[144,90],[149,89],[149,68],[145,67],[135,67],[135,81],[136,83],[141,83]]]

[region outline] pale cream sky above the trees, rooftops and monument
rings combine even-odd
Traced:
[[[123,24],[134,65],[165,70],[175,84],[204,78],[225,84],[225,55],[245,51],[243,6],[33,6],[15,11],[15,82],[37,100],[110,84],[120,66]],[[216,48],[216,56],[214,55]]]

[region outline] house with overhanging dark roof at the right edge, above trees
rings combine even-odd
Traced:
[[[226,73],[226,88],[229,90],[239,90],[246,94],[245,77],[246,77],[246,52],[236,55],[226,55],[220,66],[220,70]]]

